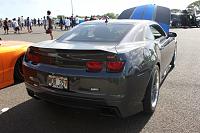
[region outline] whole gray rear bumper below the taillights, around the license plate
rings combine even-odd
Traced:
[[[109,108],[121,117],[142,111],[149,76],[149,72],[140,76],[113,78],[69,75],[69,89],[61,90],[46,85],[46,77],[51,72],[39,71],[26,65],[23,65],[23,71],[26,88],[33,96],[76,108]],[[99,91],[92,91],[94,87],[99,88]]]

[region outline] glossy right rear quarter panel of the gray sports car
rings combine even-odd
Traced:
[[[117,47],[117,51],[126,60],[125,77],[127,94],[134,101],[142,101],[154,65],[158,61],[153,41],[125,44]],[[137,92],[137,94],[135,94]],[[133,97],[134,95],[134,97]]]

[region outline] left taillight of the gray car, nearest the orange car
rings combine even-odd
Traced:
[[[40,63],[40,55],[28,49],[26,53],[26,61],[30,61],[33,64],[38,64]]]

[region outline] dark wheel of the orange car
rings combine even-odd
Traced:
[[[24,76],[23,76],[23,71],[22,71],[22,61],[23,61],[23,56],[21,56],[15,64],[15,69],[14,69],[15,82],[24,81]]]

